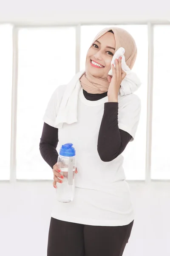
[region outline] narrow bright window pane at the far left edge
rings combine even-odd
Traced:
[[[12,26],[0,25],[0,180],[10,175],[12,51]]]

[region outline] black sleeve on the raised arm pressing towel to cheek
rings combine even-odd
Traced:
[[[121,154],[132,136],[118,126],[118,102],[106,102],[99,129],[97,151],[104,162]]]

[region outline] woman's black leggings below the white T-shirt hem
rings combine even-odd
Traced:
[[[91,226],[51,217],[47,256],[122,256],[133,221],[125,226]]]

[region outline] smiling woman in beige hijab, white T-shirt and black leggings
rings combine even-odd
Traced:
[[[57,200],[51,214],[48,256],[122,256],[133,227],[134,212],[122,167],[122,152],[134,140],[141,103],[138,96],[120,95],[126,73],[121,58],[111,60],[125,48],[130,69],[136,60],[136,44],[124,29],[106,28],[87,53],[85,72],[79,77],[77,122],[55,127],[58,100],[65,86],[57,87],[43,117],[40,153],[54,173],[53,186],[62,183],[57,166],[57,143],[71,142],[76,149],[75,198]]]

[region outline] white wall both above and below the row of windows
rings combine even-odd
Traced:
[[[0,0],[0,22],[162,21],[170,20],[168,2]],[[170,255],[170,183],[129,184],[136,218],[124,256]],[[46,256],[54,195],[52,181],[0,182],[0,255]]]

